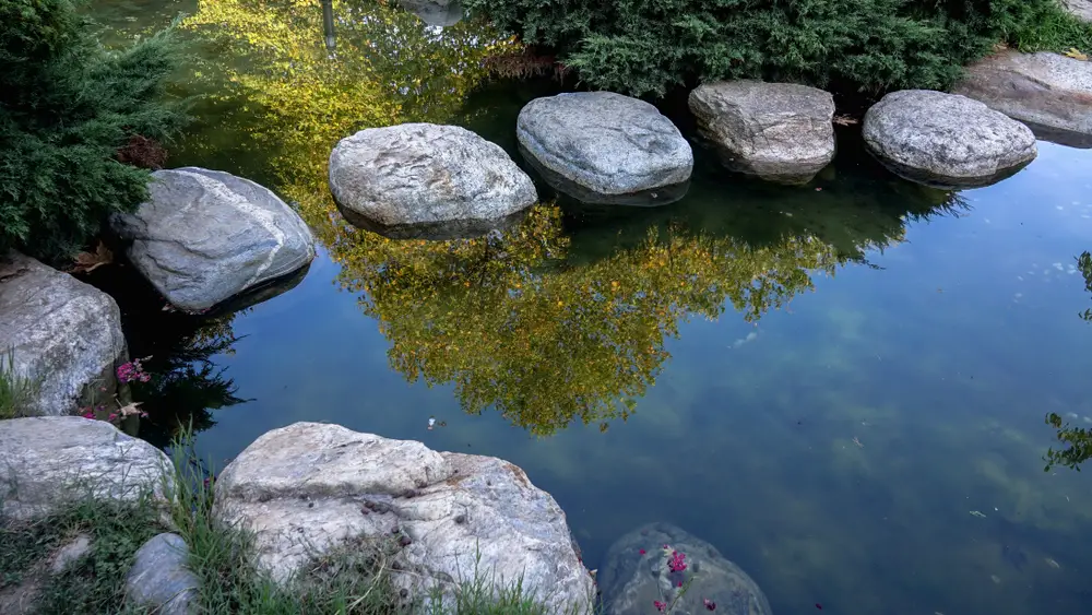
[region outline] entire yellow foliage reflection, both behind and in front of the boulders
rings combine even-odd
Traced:
[[[385,2],[335,0],[334,13],[333,56],[313,0],[205,0],[186,25],[230,58],[215,79],[248,114],[240,121],[277,191],[299,204],[341,263],[343,287],[379,321],[391,365],[411,381],[452,383],[467,412],[491,407],[537,435],[574,421],[605,428],[654,383],[682,319],[716,318],[731,303],[757,321],[847,258],[806,230],[751,245],[657,223],[578,263],[548,204],[479,239],[354,228],[327,187],[336,141],[367,127],[451,121],[486,78],[485,60],[514,44],[474,22],[430,27]]]

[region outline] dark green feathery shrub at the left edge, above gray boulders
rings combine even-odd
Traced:
[[[118,150],[183,119],[163,102],[171,31],[108,50],[93,28],[72,0],[0,0],[0,253],[68,256],[132,211],[149,175]]]

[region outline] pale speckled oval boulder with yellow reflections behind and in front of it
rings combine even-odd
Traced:
[[[342,139],[330,191],[354,225],[488,228],[533,205],[534,184],[505,150],[456,126],[404,123]],[[360,218],[364,218],[363,221]]]

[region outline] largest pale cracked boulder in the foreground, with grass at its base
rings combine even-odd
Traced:
[[[410,595],[478,578],[557,612],[590,613],[592,579],[565,512],[499,459],[296,423],[258,438],[216,481],[213,515],[256,532],[258,565],[287,582],[311,558],[401,536],[395,581]],[[480,559],[477,557],[480,556]]]

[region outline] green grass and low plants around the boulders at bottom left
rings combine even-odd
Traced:
[[[254,566],[254,535],[214,519],[215,477],[195,457],[187,430],[174,440],[170,453],[174,476],[164,489],[166,502],[141,493],[124,501],[78,499],[31,520],[0,515],[0,611],[9,613],[3,610],[8,606],[24,613],[22,607],[29,605],[10,601],[32,595],[34,610],[26,613],[557,615],[525,595],[519,581],[495,587],[484,570],[460,580],[454,603],[439,588],[407,595],[392,578],[399,569],[397,536],[354,541],[278,583]],[[72,488],[80,486],[78,478]],[[0,510],[4,496],[13,494],[0,493]],[[168,532],[189,547],[185,564],[198,579],[192,611],[161,611],[163,605],[141,605],[130,598],[127,576],[138,551]],[[85,551],[58,571],[56,563],[81,537],[88,543]],[[27,587],[33,591],[20,591]]]

